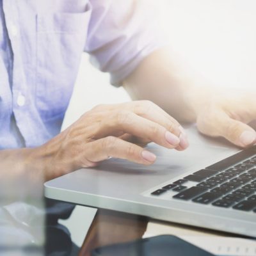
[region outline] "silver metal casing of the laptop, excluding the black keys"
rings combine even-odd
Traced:
[[[152,143],[148,149],[157,155],[157,161],[152,166],[109,159],[97,169],[81,169],[45,182],[45,196],[256,237],[256,212],[177,200],[172,196],[179,192],[172,189],[158,196],[151,194],[239,151],[228,143],[202,136],[194,126],[187,131],[190,147],[183,152]],[[189,188],[196,186],[196,183],[188,181],[184,186]]]

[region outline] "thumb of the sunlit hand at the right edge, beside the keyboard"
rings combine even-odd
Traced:
[[[226,113],[219,113],[213,123],[214,134],[226,138],[239,147],[248,147],[256,143],[255,130],[243,122],[230,118]]]

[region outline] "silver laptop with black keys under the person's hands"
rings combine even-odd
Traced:
[[[45,182],[48,198],[256,237],[256,146],[239,150],[188,127],[190,147],[154,143],[152,166],[108,159]]]

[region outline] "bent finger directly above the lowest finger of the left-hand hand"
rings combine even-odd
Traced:
[[[180,140],[177,136],[167,131],[162,125],[152,122],[129,111],[116,111],[111,113],[97,131],[97,136],[103,138],[118,131],[133,136],[153,141],[166,148],[175,148]]]

